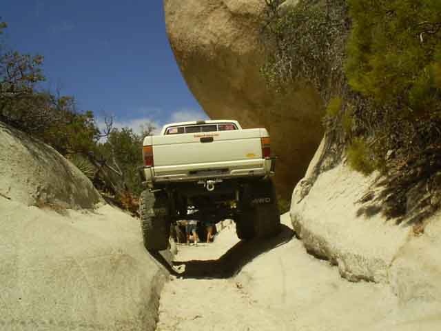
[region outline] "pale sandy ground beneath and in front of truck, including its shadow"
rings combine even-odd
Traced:
[[[283,223],[270,241],[238,241],[232,224],[214,243],[179,245],[156,330],[413,330],[387,285],[342,279]]]

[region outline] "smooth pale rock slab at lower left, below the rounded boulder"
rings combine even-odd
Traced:
[[[3,197],[0,214],[0,330],[155,330],[168,276],[135,219]]]

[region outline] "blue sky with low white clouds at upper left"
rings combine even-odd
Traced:
[[[80,110],[135,130],[207,118],[176,65],[162,0],[2,0],[0,17],[7,46],[42,54],[45,85]]]

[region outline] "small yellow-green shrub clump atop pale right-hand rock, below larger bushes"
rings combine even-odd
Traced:
[[[376,169],[371,149],[360,138],[354,139],[347,148],[347,161],[353,170],[365,175],[371,174]]]

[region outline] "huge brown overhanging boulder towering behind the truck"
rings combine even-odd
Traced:
[[[265,1],[164,0],[164,6],[170,44],[189,89],[210,118],[269,130],[280,158],[276,185],[288,197],[320,143],[322,103],[308,84],[282,98],[267,88],[258,41]]]

